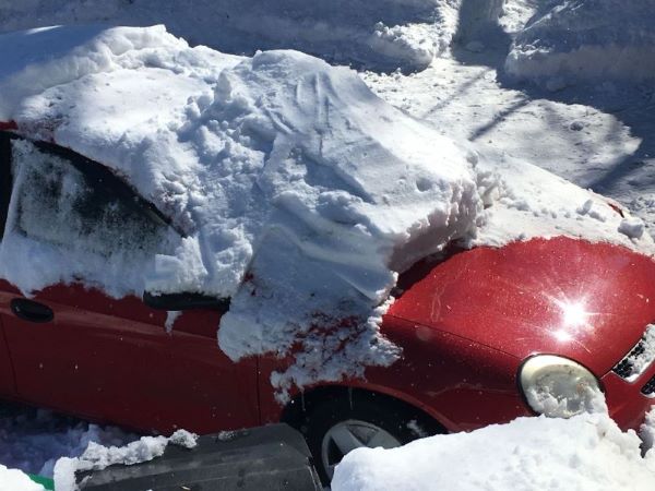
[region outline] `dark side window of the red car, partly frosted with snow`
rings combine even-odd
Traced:
[[[98,164],[11,145],[14,231],[103,256],[151,255],[166,243],[167,224]]]

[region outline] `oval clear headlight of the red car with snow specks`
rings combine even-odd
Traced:
[[[553,355],[528,358],[521,367],[519,381],[529,406],[548,417],[570,418],[605,409],[596,376],[567,358]]]

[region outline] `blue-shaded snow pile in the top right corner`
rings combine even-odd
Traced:
[[[516,36],[505,69],[557,89],[655,77],[655,0],[561,0]]]

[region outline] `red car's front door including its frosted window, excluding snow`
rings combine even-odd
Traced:
[[[146,249],[160,240],[158,233],[168,225],[124,184],[120,188],[111,181],[116,178],[103,170],[100,179],[90,178],[87,169],[80,173],[76,156],[50,145],[40,145],[39,152],[53,152],[59,167],[45,172],[41,164],[37,173],[45,176],[14,176],[10,206],[14,215],[13,221],[8,220],[4,240],[8,232],[19,233],[21,240],[66,253],[76,247],[69,242],[95,233],[95,242],[88,240],[85,248],[100,259],[111,253],[107,248]],[[14,173],[24,173],[21,158],[13,153]],[[98,166],[88,160],[83,165]],[[71,185],[63,180],[70,181],[71,176],[84,179],[85,194],[64,206],[62,201],[70,196],[63,190]],[[37,199],[33,199],[35,192]],[[134,228],[136,239],[124,237]],[[154,233],[152,240],[148,233]],[[102,261],[97,263],[100,271],[83,272],[96,282],[104,267]],[[112,259],[106,267],[120,270],[121,264]],[[49,271],[47,265],[44,271]],[[259,422],[257,360],[234,363],[221,352],[216,342],[221,311],[169,314],[134,296],[111,298],[85,279],[48,286],[31,298],[5,280],[0,284],[0,315],[22,399],[163,432],[175,428],[206,432]]]

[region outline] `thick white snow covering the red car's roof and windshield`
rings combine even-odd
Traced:
[[[71,259],[13,233],[12,208],[3,277],[25,292],[83,278],[116,297],[231,297],[218,338],[233,359],[301,339],[273,381],[282,388],[393,362],[379,323],[397,273],[454,239],[571,235],[652,250],[643,226],[599,196],[478,156],[354,71],[297,51],[242,58],[163,26],[69,26],[1,35],[0,58],[0,121],[107,166],[184,232],[98,270],[91,252]],[[43,160],[28,143],[15,151]]]

